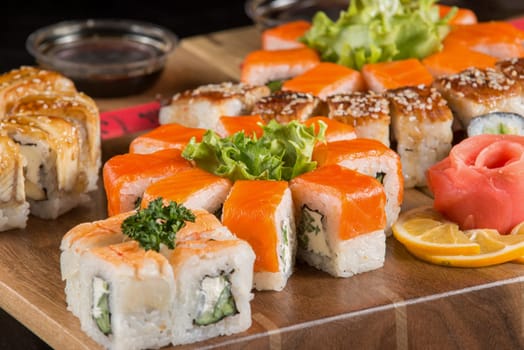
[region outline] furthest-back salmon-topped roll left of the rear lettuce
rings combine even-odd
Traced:
[[[298,39],[311,28],[304,20],[291,21],[262,32],[263,50],[285,50],[305,47]]]

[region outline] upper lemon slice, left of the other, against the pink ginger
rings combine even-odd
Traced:
[[[423,255],[473,255],[481,250],[457,224],[445,220],[431,207],[402,214],[393,225],[393,235],[409,251]]]

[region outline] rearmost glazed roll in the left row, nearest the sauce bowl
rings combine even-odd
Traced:
[[[12,105],[27,95],[40,91],[75,93],[72,80],[60,73],[30,66],[22,66],[0,75],[0,115],[3,117]]]

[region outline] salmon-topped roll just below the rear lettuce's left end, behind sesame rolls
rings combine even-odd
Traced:
[[[321,99],[364,89],[364,78],[359,71],[330,62],[319,63],[282,85],[283,91],[307,92]]]

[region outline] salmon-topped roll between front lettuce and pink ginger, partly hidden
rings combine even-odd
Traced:
[[[391,234],[404,197],[403,169],[397,153],[377,140],[358,138],[320,144],[315,147],[313,160],[319,167],[338,164],[376,178],[386,193],[385,231]]]

